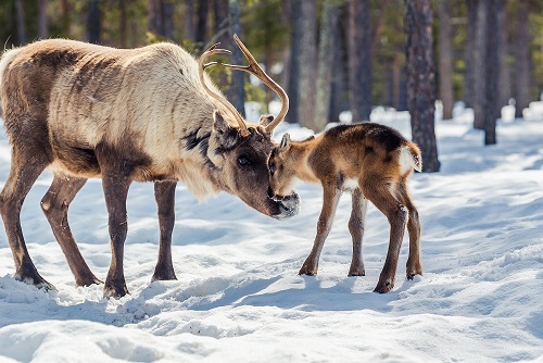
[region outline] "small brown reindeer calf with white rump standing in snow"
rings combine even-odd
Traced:
[[[317,273],[320,251],[343,190],[352,190],[353,202],[349,221],[353,259],[349,276],[365,275],[362,239],[367,200],[390,223],[389,251],[375,291],[388,292],[394,287],[406,226],[409,233],[407,278],[421,275],[420,222],[407,191],[408,176],[414,168],[420,172],[421,166],[420,150],[415,143],[407,141],[395,129],[375,123],[337,126],[305,141],[291,141],[286,134],[268,160],[273,198],[281,201],[291,198],[296,178],[307,183],[320,182],[324,189],[317,236],[300,275]]]

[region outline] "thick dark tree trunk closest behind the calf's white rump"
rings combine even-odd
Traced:
[[[405,5],[407,90],[413,140],[422,153],[422,171],[439,172],[430,0],[405,0]]]

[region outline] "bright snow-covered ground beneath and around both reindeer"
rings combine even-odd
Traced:
[[[466,116],[466,114],[468,116]],[[374,121],[409,136],[405,114]],[[281,125],[293,139],[305,129]],[[346,277],[350,198],[342,199],[316,277],[298,276],[311,250],[320,190],[300,185],[300,215],[278,222],[220,195],[198,203],[177,188],[174,264],[178,280],[150,284],[157,218],[150,184],[129,193],[125,274],[131,295],[102,298],[74,279],[39,209],[51,176],[22,213],[41,275],[59,291],[14,280],[0,233],[0,361],[22,362],[514,362],[543,361],[543,120],[502,122],[483,147],[469,113],[437,126],[442,172],[416,174],[411,189],[422,220],[425,274],[371,292],[389,226],[372,206],[364,241],[365,277]],[[0,183],[9,171],[0,137]],[[91,270],[110,263],[100,180],[72,204],[72,229]]]

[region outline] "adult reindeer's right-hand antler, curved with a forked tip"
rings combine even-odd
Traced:
[[[232,68],[232,70],[239,70],[239,71],[244,71],[248,72],[252,75],[254,75],[256,78],[262,80],[266,86],[272,88],[274,92],[279,96],[281,99],[281,111],[279,114],[267,126],[266,126],[266,132],[270,133],[274,128],[277,127],[281,123],[281,121],[285,120],[285,116],[287,115],[287,112],[289,111],[289,97],[287,96],[287,92],[279,86],[277,83],[272,79],[264,70],[261,68],[256,60],[254,59],[253,54],[247,49],[247,47],[241,42],[241,40],[238,38],[238,36],[235,34],[233,35],[233,40],[238,45],[238,47],[241,49],[243,52],[243,55],[245,55],[247,60],[249,61],[249,65],[235,65],[235,64],[222,64],[223,66]]]

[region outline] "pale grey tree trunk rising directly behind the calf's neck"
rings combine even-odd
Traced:
[[[298,14],[302,18],[298,122],[302,126],[317,130],[315,126],[317,9],[315,0],[302,0],[301,2],[301,13]]]

